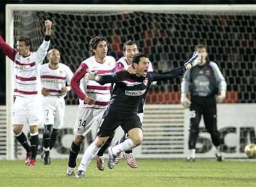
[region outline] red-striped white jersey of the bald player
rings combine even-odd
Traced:
[[[42,88],[49,89],[50,96],[66,96],[61,92],[64,86],[70,86],[70,81],[73,76],[69,66],[59,63],[57,69],[52,69],[49,63],[46,63],[40,68],[41,86]]]

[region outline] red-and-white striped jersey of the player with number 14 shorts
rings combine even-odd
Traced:
[[[71,80],[71,87],[80,98],[80,105],[83,105],[83,108],[106,108],[111,97],[111,83],[101,85],[96,81],[85,81],[86,70],[98,71],[98,74],[109,74],[113,73],[115,65],[116,60],[111,56],[106,56],[104,63],[97,62],[95,56],[92,56],[80,64]],[[87,96],[95,100],[94,105],[83,102],[83,98]]]

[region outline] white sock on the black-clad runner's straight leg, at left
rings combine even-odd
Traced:
[[[82,161],[80,162],[78,170],[85,171],[92,159],[96,156],[100,148],[96,147],[95,143],[91,143],[90,146],[83,153]]]

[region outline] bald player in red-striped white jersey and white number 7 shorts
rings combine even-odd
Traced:
[[[70,90],[73,76],[69,66],[60,63],[61,55],[58,49],[51,49],[47,55],[48,63],[40,68],[43,94],[43,152],[44,164],[51,164],[49,151],[57,139],[58,130],[64,124],[65,100]]]

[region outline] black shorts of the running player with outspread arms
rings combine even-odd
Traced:
[[[142,123],[140,122],[137,114],[120,114],[111,108],[108,108],[103,115],[103,119],[98,130],[97,135],[99,137],[109,137],[111,133],[121,125],[124,132],[128,132],[130,129],[140,128],[142,129]]]

